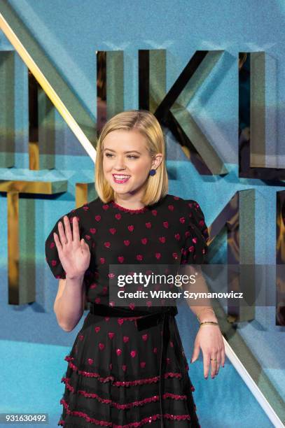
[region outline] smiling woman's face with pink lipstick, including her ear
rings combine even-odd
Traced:
[[[146,138],[139,131],[112,131],[104,139],[104,176],[118,195],[142,196],[149,171],[157,168],[161,160],[161,154],[151,159]]]

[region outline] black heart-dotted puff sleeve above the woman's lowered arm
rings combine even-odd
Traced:
[[[209,231],[204,213],[197,201],[186,200],[188,230],[184,243],[181,264],[203,264],[208,252]]]

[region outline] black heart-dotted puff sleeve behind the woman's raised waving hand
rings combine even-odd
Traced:
[[[73,231],[72,219],[73,217],[77,217],[80,239],[83,238],[83,224],[82,224],[79,208],[74,209],[64,215],[67,215],[67,217],[69,218],[71,231]],[[46,239],[46,243],[45,243],[46,262],[48,263],[48,266],[50,267],[50,270],[52,271],[53,276],[55,276],[55,278],[57,279],[65,279],[66,273],[60,262],[60,257],[57,252],[57,246],[55,245],[55,241],[53,239],[53,233],[55,232],[57,233],[57,236],[60,236],[58,233],[58,223],[61,221],[62,224],[64,224],[64,220],[63,220],[64,215],[60,217],[59,220],[57,220],[53,229],[50,231],[50,234],[48,235],[48,238]]]

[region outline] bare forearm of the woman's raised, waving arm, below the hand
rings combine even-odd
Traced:
[[[55,302],[57,322],[65,331],[74,329],[83,315],[83,279],[67,277],[62,295]]]

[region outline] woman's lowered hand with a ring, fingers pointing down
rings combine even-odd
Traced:
[[[211,363],[211,378],[218,374],[220,365],[225,365],[225,345],[218,325],[202,325],[197,332],[191,363],[199,357],[200,348],[204,359],[204,378],[208,378]],[[214,358],[211,359],[210,358]]]

